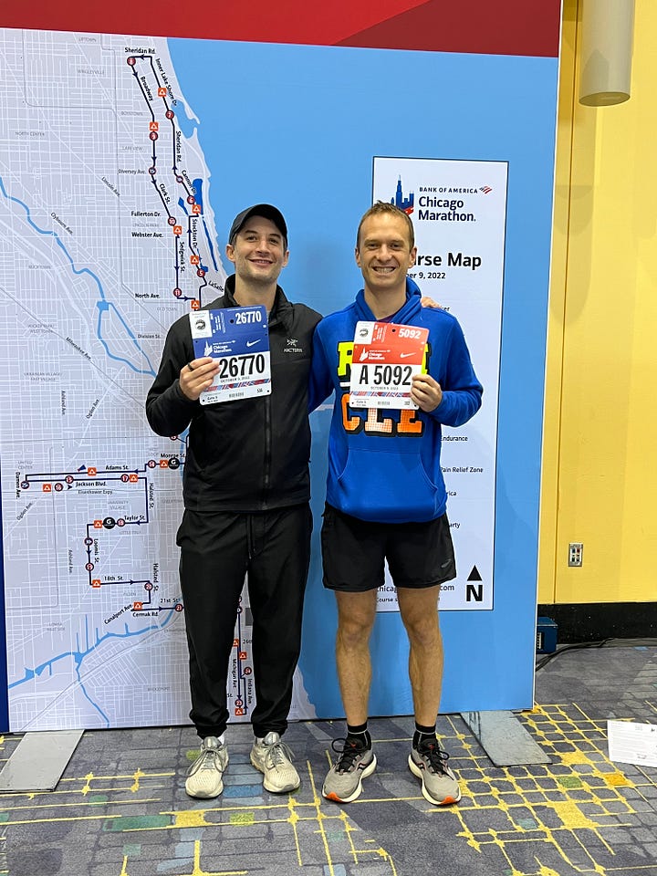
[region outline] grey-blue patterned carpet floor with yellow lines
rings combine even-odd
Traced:
[[[229,728],[221,798],[184,793],[191,727],[87,732],[57,789],[0,796],[10,876],[657,876],[657,769],[612,764],[607,718],[657,724],[657,648],[560,654],[518,720],[547,766],[493,767],[458,715],[439,720],[463,798],[435,808],[406,758],[408,717],[370,722],[379,767],[360,799],[321,798],[343,725],[291,725],[300,789],[263,791],[250,728]],[[19,737],[5,736],[9,757]]]

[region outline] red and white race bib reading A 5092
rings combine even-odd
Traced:
[[[359,322],[354,335],[349,404],[352,408],[413,408],[411,385],[422,370],[428,328]]]

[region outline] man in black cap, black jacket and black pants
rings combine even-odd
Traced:
[[[202,739],[185,790],[214,798],[228,764],[226,681],[239,598],[248,574],[253,614],[255,701],[252,764],[266,790],[300,780],[281,736],[301,642],[312,517],[308,460],[308,371],[320,315],[292,304],[277,286],[287,265],[287,225],[271,204],[235,217],[226,246],[235,274],[207,309],[264,305],[269,314],[271,395],[202,405],[215,360],[196,358],[188,316],[173,323],[146,400],[160,435],[189,442],[178,530],[180,578],[190,652],[193,720]]]

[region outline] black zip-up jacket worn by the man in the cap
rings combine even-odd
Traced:
[[[206,309],[238,307],[234,292],[232,275],[224,296]],[[146,416],[159,435],[179,435],[190,427],[183,473],[186,508],[266,511],[308,502],[308,374],[320,318],[276,287],[269,314],[271,395],[207,405],[190,401],[180,388],[181,369],[196,356],[189,317],[173,323],[146,399]]]

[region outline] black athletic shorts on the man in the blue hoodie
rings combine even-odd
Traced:
[[[447,515],[428,523],[371,523],[324,508],[324,587],[360,593],[381,587],[388,560],[395,587],[433,587],[456,577]]]

